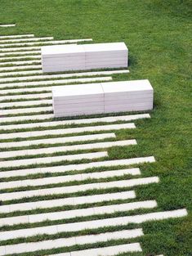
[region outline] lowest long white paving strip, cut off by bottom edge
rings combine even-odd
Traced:
[[[115,256],[117,254],[123,253],[133,253],[133,252],[141,252],[141,245],[139,243],[134,244],[126,244],[126,245],[115,245],[115,246],[108,246],[103,248],[96,248],[96,249],[83,249],[78,251],[73,251],[70,253],[64,254],[52,254],[47,256]]]

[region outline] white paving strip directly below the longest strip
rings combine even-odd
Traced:
[[[132,230],[106,232],[106,233],[100,233],[97,235],[76,236],[76,237],[70,237],[70,238],[60,238],[56,240],[42,240],[40,242],[23,243],[18,245],[4,245],[0,247],[0,252],[3,252],[3,249],[4,249],[5,254],[1,253],[0,255],[35,252],[42,249],[60,248],[60,247],[64,247],[64,245],[67,245],[67,246],[84,245],[84,244],[105,242],[108,240],[130,239],[130,238],[136,238],[143,235],[144,234],[142,229],[139,228],[139,229],[132,229]],[[120,246],[123,246],[123,245],[120,245]],[[120,250],[119,247],[118,249]],[[70,253],[67,253],[67,254],[70,256]],[[55,255],[56,254],[54,254],[54,256]],[[62,256],[63,255],[64,254],[62,254]],[[83,256],[84,255],[85,254],[83,254]]]

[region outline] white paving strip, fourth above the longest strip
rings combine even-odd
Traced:
[[[128,168],[128,169],[119,169],[113,171],[105,171],[98,173],[81,173],[74,175],[65,175],[58,177],[43,177],[29,180],[21,180],[14,182],[1,182],[1,190],[7,188],[16,188],[23,186],[45,186],[49,184],[65,183],[65,182],[74,182],[74,181],[85,181],[88,179],[99,179],[99,178],[108,178],[108,177],[121,177],[123,175],[140,175],[139,168]],[[0,219],[1,222],[1,219]]]

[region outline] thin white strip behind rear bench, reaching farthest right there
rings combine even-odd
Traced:
[[[65,43],[78,43],[78,42],[87,42],[92,41],[92,38],[85,38],[85,39],[72,39],[72,40],[54,40],[54,41],[39,41],[39,42],[29,42],[29,43],[2,43],[0,44],[0,51],[5,47],[27,47],[27,46],[35,46],[40,45],[42,47],[44,45],[55,45],[55,44],[65,44]],[[12,48],[14,49],[14,48]]]

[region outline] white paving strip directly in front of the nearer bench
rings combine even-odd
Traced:
[[[22,101],[20,101],[22,102]],[[3,103],[2,103],[3,104]],[[71,119],[64,121],[51,121],[43,123],[32,123],[32,124],[12,124],[12,125],[0,125],[0,130],[6,129],[18,129],[21,128],[40,128],[40,127],[54,127],[58,125],[69,125],[69,124],[93,124],[93,123],[112,123],[117,121],[132,121],[136,119],[150,119],[150,114],[138,114],[138,115],[118,115],[100,118],[89,118],[89,119]],[[1,147],[1,144],[0,144]]]

